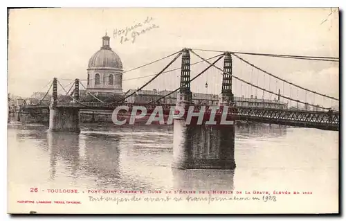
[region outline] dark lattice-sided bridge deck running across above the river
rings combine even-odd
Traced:
[[[57,103],[56,107],[64,108],[78,108],[78,109],[99,109],[99,110],[113,110],[118,106],[127,106],[129,111],[134,106],[145,106],[147,113],[151,113],[156,106],[155,104],[113,104],[106,103]],[[163,114],[170,114],[170,109],[175,104],[160,105],[163,107]],[[194,105],[194,111],[200,109],[201,106]],[[48,109],[48,105],[26,105],[22,110],[30,112],[35,109]],[[187,109],[185,109],[187,112]],[[221,114],[222,110],[217,111],[217,115]],[[210,109],[206,106],[206,114],[210,114]],[[325,112],[325,111],[306,111],[297,109],[273,109],[265,107],[229,107],[228,115],[233,119],[240,121],[253,121],[258,123],[270,123],[278,125],[289,125],[295,127],[311,127],[321,130],[339,130],[339,112]]]

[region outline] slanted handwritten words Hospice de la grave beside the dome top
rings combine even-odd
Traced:
[[[143,22],[137,22],[133,26],[127,26],[124,29],[116,28],[113,30],[113,38],[118,38],[120,44],[125,42],[134,43],[140,35],[143,35],[152,29],[159,28],[159,26],[153,22],[154,18],[147,17]]]

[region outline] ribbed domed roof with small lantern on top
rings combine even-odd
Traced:
[[[102,37],[102,47],[91,56],[88,68],[116,68],[122,69],[122,62],[109,46],[109,37]]]

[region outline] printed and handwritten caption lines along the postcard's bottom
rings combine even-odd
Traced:
[[[30,193],[58,195],[87,194],[87,202],[277,202],[283,195],[312,195],[311,191],[127,191],[30,188]],[[73,200],[17,200],[20,204],[82,204]],[[85,203],[85,202],[84,202]]]

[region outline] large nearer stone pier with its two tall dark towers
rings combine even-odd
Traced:
[[[181,85],[177,95],[176,107],[192,105],[190,91],[190,53],[183,49],[181,62]],[[220,105],[233,104],[232,94],[232,58],[230,53],[225,54],[222,92]],[[194,117],[196,118],[196,116]],[[216,120],[215,120],[216,121]],[[235,123],[228,125],[197,125],[188,124],[186,117],[174,118],[172,167],[178,169],[221,169],[235,168]]]

